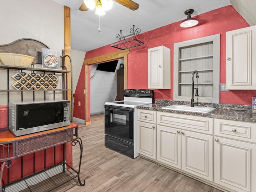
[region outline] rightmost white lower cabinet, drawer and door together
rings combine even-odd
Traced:
[[[214,182],[256,192],[256,124],[214,119]]]

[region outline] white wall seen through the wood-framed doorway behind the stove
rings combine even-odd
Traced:
[[[124,63],[124,60],[118,61],[117,69],[120,68],[120,63]],[[91,66],[91,115],[104,113],[105,102],[114,101],[116,98],[116,71],[114,73],[96,71],[96,66]]]

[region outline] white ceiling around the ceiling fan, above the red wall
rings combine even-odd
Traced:
[[[140,6],[132,11],[117,2],[111,10],[99,17],[94,11],[78,10],[83,0],[53,0],[71,10],[71,48],[90,51],[117,42],[116,34],[130,34],[130,28],[141,33],[186,19],[185,10],[194,9],[193,16],[230,5],[230,0],[133,0]],[[246,0],[245,0],[246,1]],[[200,22],[200,21],[199,21]]]

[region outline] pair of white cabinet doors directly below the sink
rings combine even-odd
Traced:
[[[156,160],[213,181],[213,136],[157,125]]]

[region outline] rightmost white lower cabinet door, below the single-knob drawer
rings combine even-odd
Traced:
[[[214,182],[237,192],[256,191],[255,150],[254,144],[215,137]]]

